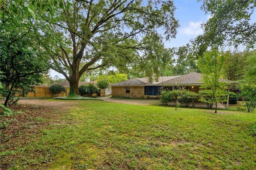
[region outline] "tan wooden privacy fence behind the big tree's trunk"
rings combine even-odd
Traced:
[[[44,87],[44,86],[34,86],[35,92],[29,92],[26,97],[54,97],[54,94],[50,91],[50,87]],[[70,91],[70,87],[65,87],[66,92],[60,93],[58,97],[63,97],[68,95]]]

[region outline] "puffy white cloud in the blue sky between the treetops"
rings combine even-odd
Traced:
[[[202,23],[202,20],[198,22],[189,22],[189,26],[182,28],[180,32],[181,34],[186,34],[189,36],[197,36],[199,34],[202,34],[203,30],[200,27]]]

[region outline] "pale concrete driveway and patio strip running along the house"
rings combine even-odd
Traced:
[[[124,104],[130,104],[130,105],[162,105],[162,103],[160,102],[160,99],[113,99],[110,97],[99,97],[98,99],[102,99],[108,102],[124,103]],[[174,102],[170,104],[175,105]],[[205,103],[195,102],[194,105],[195,107],[206,108]],[[213,105],[213,107],[214,106],[215,105]],[[192,107],[192,104],[190,105],[190,107]],[[217,108],[225,109],[225,107],[220,103],[217,105]]]

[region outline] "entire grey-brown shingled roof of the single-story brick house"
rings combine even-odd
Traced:
[[[163,80],[163,81],[162,81]],[[220,79],[220,81],[226,84],[236,84],[234,81]],[[181,76],[163,76],[158,78],[158,82],[150,83],[148,77],[143,78],[132,78],[129,80],[114,83],[112,86],[140,86],[140,85],[202,85],[202,74],[191,72]]]

